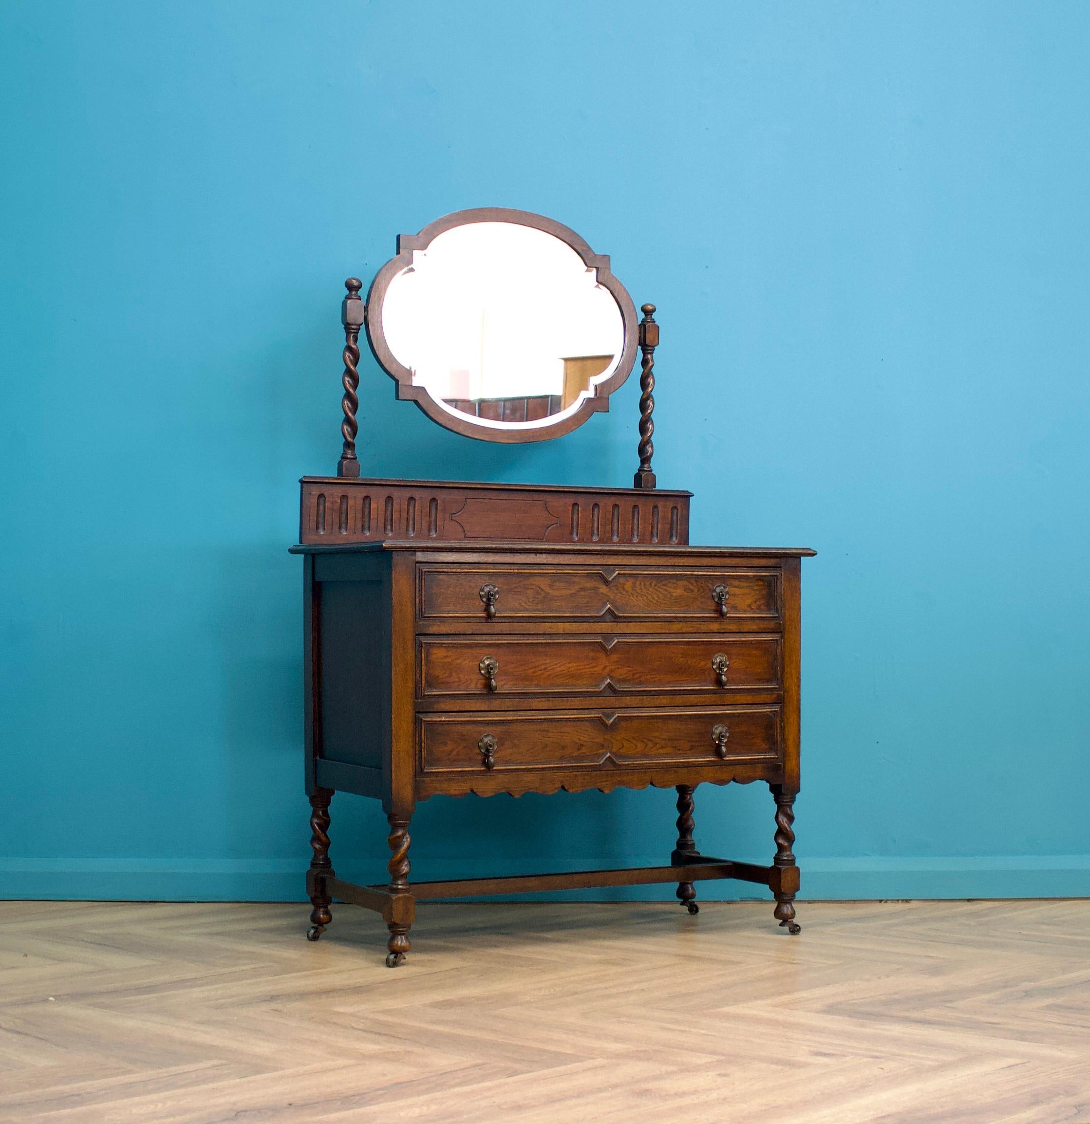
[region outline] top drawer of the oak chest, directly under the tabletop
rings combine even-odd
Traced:
[[[419,568],[421,620],[778,620],[780,571],[729,566]]]

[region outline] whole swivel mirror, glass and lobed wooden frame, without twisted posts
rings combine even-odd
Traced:
[[[375,359],[439,425],[481,441],[567,433],[628,378],[636,310],[574,230],[458,211],[398,239],[366,302]]]

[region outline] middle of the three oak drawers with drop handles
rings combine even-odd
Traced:
[[[778,690],[779,636],[418,636],[417,698]]]

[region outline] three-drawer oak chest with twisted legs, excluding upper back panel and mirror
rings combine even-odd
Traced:
[[[685,507],[688,524],[688,508]],[[382,912],[399,962],[417,900],[580,886],[742,878],[796,930],[799,563],[809,551],[619,542],[385,540],[306,544],[307,785],[312,935],[340,897]],[[776,799],[770,867],[700,855],[701,782],[761,780]],[[670,865],[409,881],[409,822],[436,795],[648,785],[678,790]],[[334,790],[383,801],[391,881],[338,879]]]

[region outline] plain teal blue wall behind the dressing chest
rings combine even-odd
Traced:
[[[0,892],[298,896],[342,281],[487,205],[658,305],[693,542],[820,552],[807,891],[1090,892],[1088,52],[1081,2],[6,0]],[[484,445],[366,356],[361,460],[624,484],[637,397]],[[765,789],[698,797],[766,859]],[[673,800],[436,799],[414,869],[662,861]],[[374,805],[334,841],[381,874]]]

